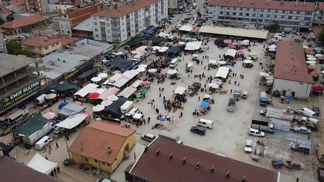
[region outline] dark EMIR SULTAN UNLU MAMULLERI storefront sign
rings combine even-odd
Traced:
[[[41,88],[40,81],[37,80],[36,82],[30,84],[29,86],[17,91],[16,93],[9,95],[8,97],[1,100],[3,108],[7,108],[14,104],[15,102],[20,101],[21,99],[27,97],[28,95],[32,94],[34,91],[37,91]]]

